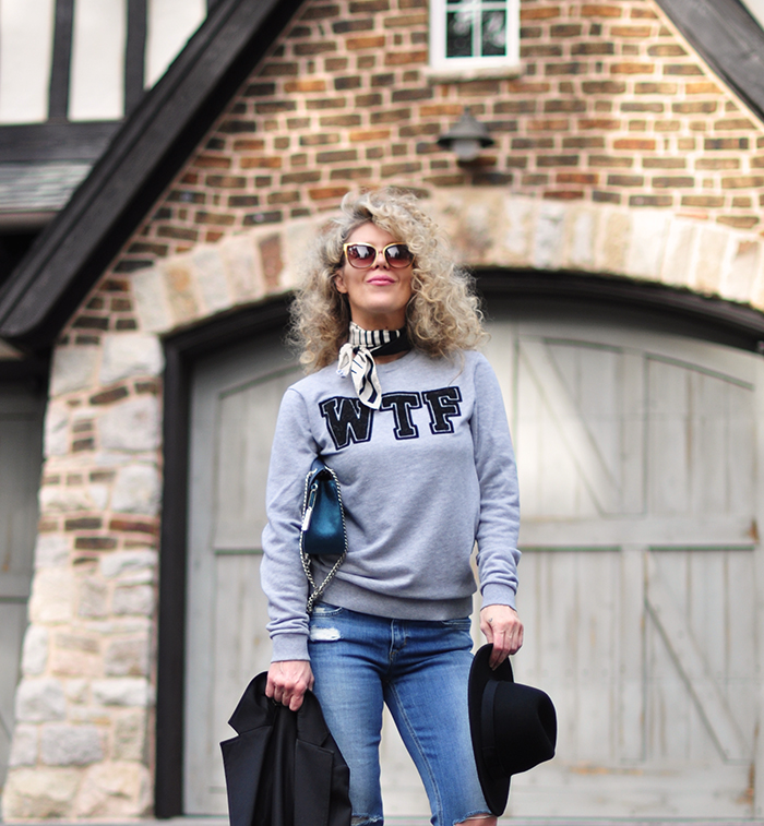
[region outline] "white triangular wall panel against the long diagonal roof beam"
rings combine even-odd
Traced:
[[[162,77],[206,13],[206,0],[148,0],[146,87]]]

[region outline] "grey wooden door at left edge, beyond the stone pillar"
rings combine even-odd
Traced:
[[[21,387],[0,388],[0,786],[34,566],[41,432],[39,400]]]

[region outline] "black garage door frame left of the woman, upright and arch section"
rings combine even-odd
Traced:
[[[283,327],[287,306],[286,299],[278,298],[215,319],[165,342],[154,787],[154,813],[162,818],[183,814],[189,421],[193,363],[216,349]]]

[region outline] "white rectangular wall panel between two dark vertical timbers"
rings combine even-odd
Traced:
[[[124,115],[127,0],[74,3],[70,120],[118,120]]]

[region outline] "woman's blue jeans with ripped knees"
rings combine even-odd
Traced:
[[[389,620],[313,609],[314,693],[350,767],[354,826],[383,823],[379,745],[386,703],[425,783],[434,826],[489,812],[475,768],[467,681],[469,619]]]

